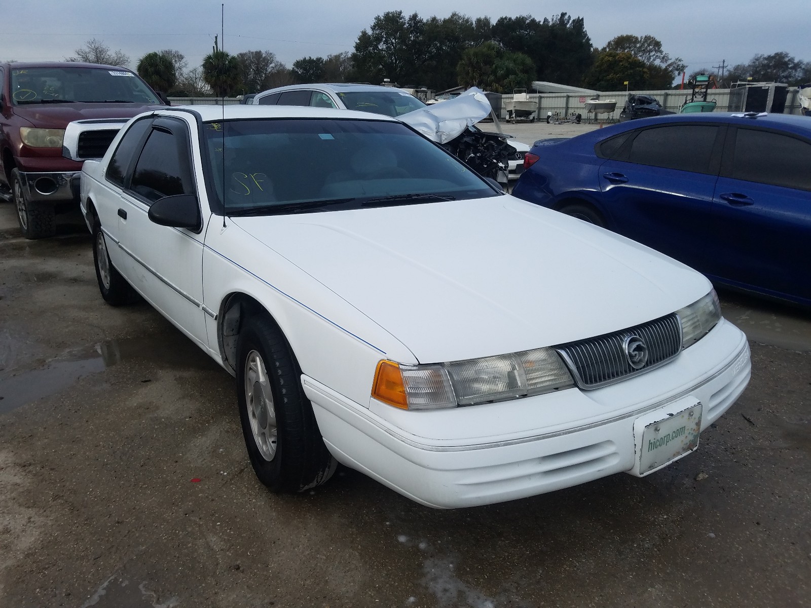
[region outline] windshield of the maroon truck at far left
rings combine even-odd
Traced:
[[[11,71],[15,105],[65,102],[160,104],[129,70],[98,67],[29,67]]]

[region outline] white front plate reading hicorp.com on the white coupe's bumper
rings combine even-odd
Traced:
[[[640,477],[679,460],[698,447],[698,434],[702,430],[700,401],[693,400],[686,408],[672,404],[658,411],[662,414],[659,419],[643,422],[642,442],[637,443]]]

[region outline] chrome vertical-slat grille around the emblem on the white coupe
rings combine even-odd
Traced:
[[[635,370],[624,351],[624,341],[638,336],[645,341],[648,359]],[[633,328],[556,347],[574,381],[581,388],[599,388],[642,374],[676,357],[681,350],[681,323],[676,313]]]

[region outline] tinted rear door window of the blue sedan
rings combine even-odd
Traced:
[[[628,161],[664,169],[713,173],[710,159],[718,127],[669,125],[639,131],[631,144]]]

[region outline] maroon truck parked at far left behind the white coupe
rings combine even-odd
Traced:
[[[132,118],[164,101],[122,67],[0,63],[0,196],[15,203],[24,236],[54,235],[55,215],[78,203],[82,161],[104,156],[118,133],[88,131],[72,160],[62,156],[68,122]]]

